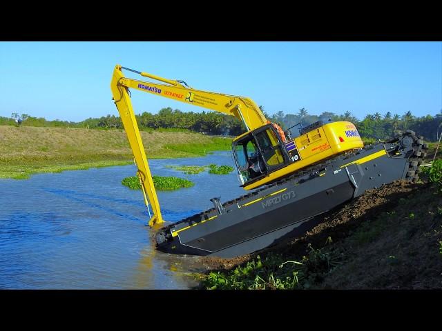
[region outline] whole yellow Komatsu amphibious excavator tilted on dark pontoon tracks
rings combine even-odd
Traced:
[[[153,81],[124,77],[122,70]],[[164,220],[129,88],[232,115],[247,129],[233,139],[232,154],[240,186],[250,192],[225,203],[213,197],[213,208],[157,230],[157,250],[162,252],[235,257],[302,235],[320,221],[320,214],[365,190],[396,179],[416,181],[425,156],[423,137],[411,130],[364,146],[353,123],[318,121],[291,138],[289,130],[268,121],[247,97],[195,90],[184,81],[117,65],[113,100],[133,151],[144,202],[149,214],[149,203],[153,210],[151,227]]]

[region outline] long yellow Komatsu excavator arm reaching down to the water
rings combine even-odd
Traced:
[[[135,72],[142,77],[161,81],[165,84],[139,81],[124,77],[122,69]],[[146,153],[144,152],[144,146],[128,94],[128,88],[135,88],[136,90],[160,95],[161,97],[229,114],[240,119],[246,126],[247,131],[260,128],[269,123],[260,108],[249,98],[194,90],[187,86],[184,81],[164,79],[153,74],[148,74],[147,72],[139,72],[119,65],[115,66],[111,81],[113,99],[115,100],[115,106],[117,106],[119,115],[122,118],[124,130],[126,130],[128,141],[133,151],[133,156],[135,157],[135,163],[138,168],[137,175],[140,178],[144,194],[144,203],[146,203],[147,207],[148,202],[152,205],[154,215],[149,221],[149,225],[151,226],[155,223],[163,223],[164,220],[162,219],[160,204],[158,203],[157,193],[153,185],[151,171],[148,167]]]

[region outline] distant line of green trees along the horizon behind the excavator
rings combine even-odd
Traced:
[[[363,119],[357,119],[351,112],[344,114],[334,114],[333,112],[323,112],[322,114],[309,114],[305,108],[300,108],[295,114],[285,114],[276,112],[276,114],[267,114],[260,106],[265,117],[274,123],[280,123],[284,130],[295,126],[291,132],[293,136],[298,135],[298,128],[308,126],[316,121],[329,123],[330,121],[349,121],[354,123],[358,132],[363,138],[388,139],[394,137],[394,134],[405,130],[413,130],[423,135],[427,141],[436,141],[442,132],[442,110],[435,116],[426,115],[415,117],[412,112],[407,111],[402,115],[367,114]],[[143,112],[135,115],[140,130],[157,129],[177,129],[189,130],[193,132],[202,132],[206,134],[225,134],[238,136],[245,132],[245,127],[236,117],[220,114],[218,112],[182,112],[172,108],[163,108],[157,114]],[[61,121],[56,119],[48,121],[43,117],[32,117],[28,114],[12,113],[11,117],[0,117],[0,125],[18,125],[17,121],[21,119],[23,126],[46,126],[46,127],[65,127],[65,128],[90,128],[90,129],[110,129],[122,128],[122,120],[119,116],[108,114],[106,117],[88,118],[84,121]]]

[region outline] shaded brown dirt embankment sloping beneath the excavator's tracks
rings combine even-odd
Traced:
[[[300,261],[308,245],[339,257],[314,288],[442,288],[442,194],[428,183],[395,181],[323,215],[305,236],[233,259],[206,257],[226,272],[257,255]]]

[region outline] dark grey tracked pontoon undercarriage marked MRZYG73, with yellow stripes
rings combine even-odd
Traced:
[[[160,229],[157,250],[236,257],[298,237],[320,214],[397,179],[416,181],[426,146],[408,130],[391,141],[334,157]]]

